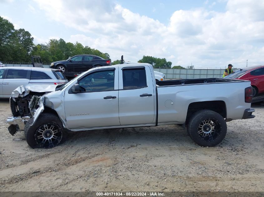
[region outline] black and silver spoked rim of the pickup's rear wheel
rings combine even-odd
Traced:
[[[214,118],[202,120],[197,127],[198,137],[204,142],[216,141],[222,133],[220,122]]]

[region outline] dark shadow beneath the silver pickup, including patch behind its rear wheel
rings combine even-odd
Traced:
[[[238,146],[244,141],[244,138],[240,135],[236,135],[236,138],[233,138],[234,133],[229,133],[227,132],[226,139],[217,146]],[[148,146],[200,147],[193,142],[187,134],[186,129],[184,130],[181,126],[177,125],[79,131],[69,133],[65,143],[81,146],[87,146],[87,144],[112,144],[113,146],[120,144],[141,144]]]

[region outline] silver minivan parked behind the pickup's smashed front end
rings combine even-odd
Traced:
[[[35,67],[0,68],[0,98],[9,98],[14,89],[27,84],[58,85],[68,80],[57,69]]]

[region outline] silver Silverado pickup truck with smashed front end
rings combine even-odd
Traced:
[[[51,148],[67,132],[182,124],[200,146],[215,146],[226,122],[254,118],[249,81],[205,78],[155,81],[147,63],[98,67],[65,85],[12,92],[10,134],[24,130],[32,148]]]

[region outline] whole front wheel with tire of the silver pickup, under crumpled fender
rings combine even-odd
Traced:
[[[37,122],[33,118],[25,125],[25,138],[31,148],[53,148],[65,139],[61,120],[52,113],[43,113]],[[30,126],[32,124],[32,126]]]

